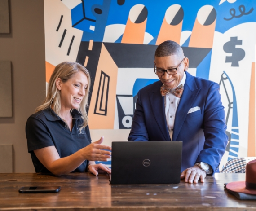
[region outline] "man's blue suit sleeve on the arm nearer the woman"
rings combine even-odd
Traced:
[[[146,129],[145,114],[141,103],[141,90],[138,92],[136,102],[136,110],[132,118],[132,129],[128,137],[128,141],[149,141]]]

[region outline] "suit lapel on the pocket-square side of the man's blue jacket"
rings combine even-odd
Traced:
[[[186,119],[188,111],[190,110],[196,96],[198,95],[198,92],[200,91],[200,88],[197,87],[194,81],[194,77],[188,72],[185,72],[185,74],[186,81],[184,85],[184,91],[175,115],[176,117],[172,134],[172,140],[174,141],[177,139],[177,136],[181,131],[181,127]]]

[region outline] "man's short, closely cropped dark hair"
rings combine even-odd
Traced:
[[[183,50],[179,44],[174,41],[167,40],[159,44],[156,48],[154,56],[155,57],[168,57],[171,55],[180,56],[183,54]]]

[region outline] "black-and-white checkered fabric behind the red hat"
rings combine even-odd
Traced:
[[[225,164],[221,173],[245,173],[245,166],[251,160],[255,160],[256,157],[247,158],[234,158]]]

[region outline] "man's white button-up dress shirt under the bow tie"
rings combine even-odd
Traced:
[[[181,79],[181,82],[179,85],[183,84],[183,87],[184,87],[185,80],[186,80],[186,74],[184,73],[183,78]],[[164,97],[165,118],[166,118],[166,123],[167,123],[171,140],[172,140],[175,115],[176,115],[177,107],[179,105],[180,100],[181,98],[176,97],[172,93],[169,93]]]

